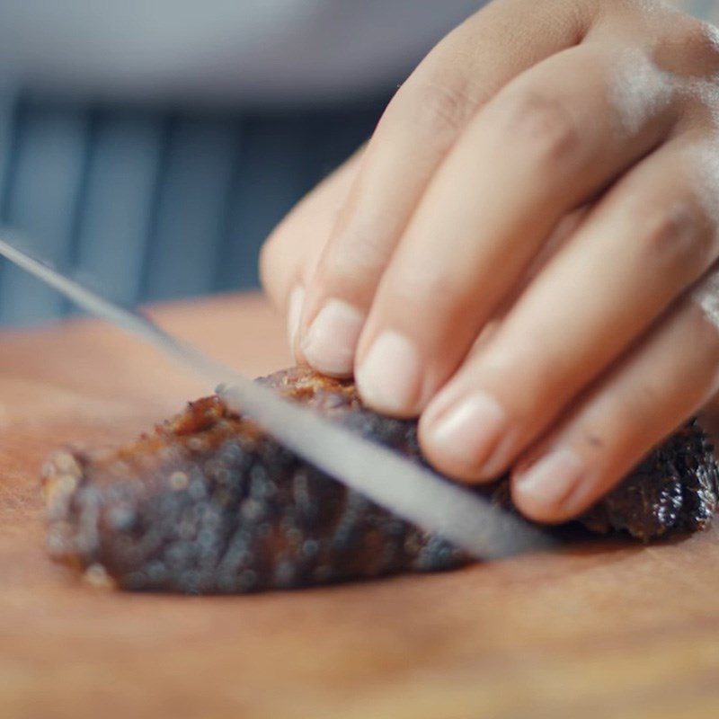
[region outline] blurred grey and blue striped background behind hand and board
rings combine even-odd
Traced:
[[[2,0],[0,234],[125,303],[256,288],[271,228],[481,4]],[[0,260],[0,324],[71,311]]]

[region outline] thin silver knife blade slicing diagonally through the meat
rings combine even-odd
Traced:
[[[217,385],[217,394],[231,410],[251,416],[307,462],[404,519],[436,532],[469,555],[494,559],[555,544],[545,531],[518,516],[258,385],[166,333],[138,310],[100,296],[2,239],[0,255],[84,310],[154,344]]]

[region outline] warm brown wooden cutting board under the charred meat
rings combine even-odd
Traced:
[[[253,374],[288,364],[256,296],[158,308]],[[45,555],[38,471],[208,392],[76,320],[0,333],[0,717],[719,716],[719,532],[235,598],[98,590]]]

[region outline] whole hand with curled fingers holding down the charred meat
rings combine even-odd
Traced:
[[[262,251],[299,361],[469,483],[581,513],[719,389],[719,31],[495,0]]]

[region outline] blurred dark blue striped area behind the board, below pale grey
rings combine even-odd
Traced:
[[[0,129],[0,224],[124,303],[255,288],[271,228],[386,101],[192,114],[21,98]],[[0,324],[69,311],[0,260]]]

